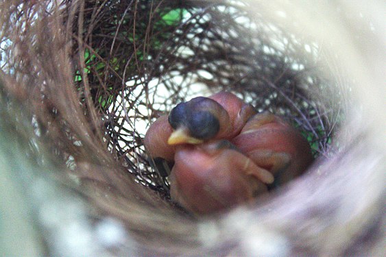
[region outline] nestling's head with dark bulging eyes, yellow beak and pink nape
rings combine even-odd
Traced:
[[[230,139],[239,134],[255,113],[251,105],[227,92],[193,98],[171,110],[169,123],[174,132],[168,143],[200,144],[209,139]]]

